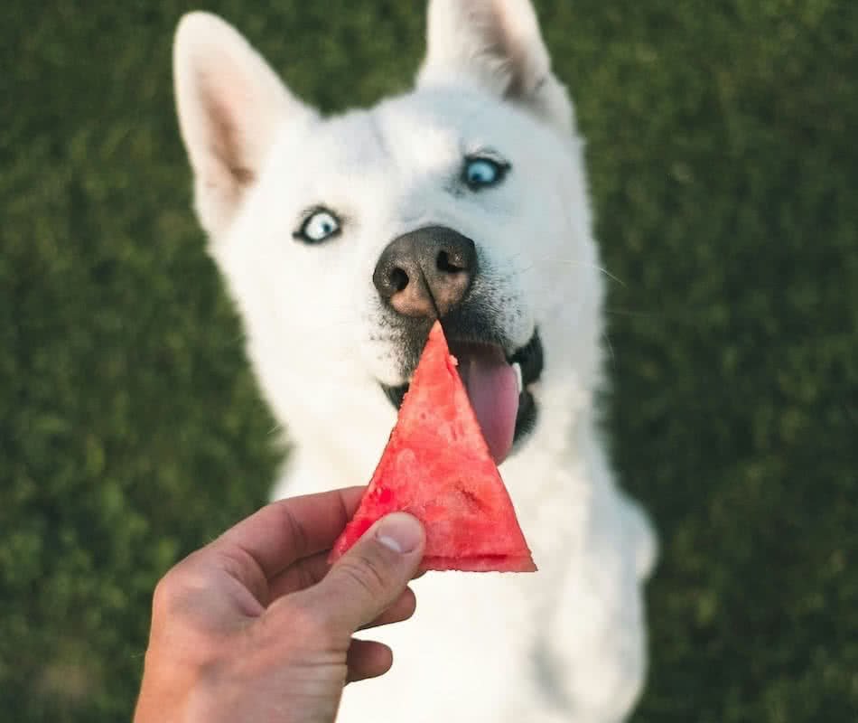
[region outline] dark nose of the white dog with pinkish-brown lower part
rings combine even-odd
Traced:
[[[372,282],[399,314],[440,317],[462,303],[476,273],[473,241],[429,226],[392,240],[378,258]]]

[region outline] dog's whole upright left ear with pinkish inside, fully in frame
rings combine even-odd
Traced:
[[[218,239],[256,181],[277,130],[312,111],[217,15],[182,17],[173,43],[173,80],[197,215]]]

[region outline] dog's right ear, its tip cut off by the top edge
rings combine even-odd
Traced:
[[[418,85],[462,80],[572,127],[572,104],[551,72],[530,0],[430,0]]]

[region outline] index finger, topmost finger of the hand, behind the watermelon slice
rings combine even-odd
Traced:
[[[239,549],[256,561],[266,579],[295,560],[330,549],[366,487],[347,487],[272,502],[224,532],[211,547]]]

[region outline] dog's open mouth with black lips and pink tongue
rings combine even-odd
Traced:
[[[496,464],[507,458],[536,424],[533,385],[543,370],[542,342],[535,331],[530,341],[512,354],[498,343],[450,340],[450,352],[459,362],[459,374],[482,436]],[[396,409],[408,384],[381,385]]]

